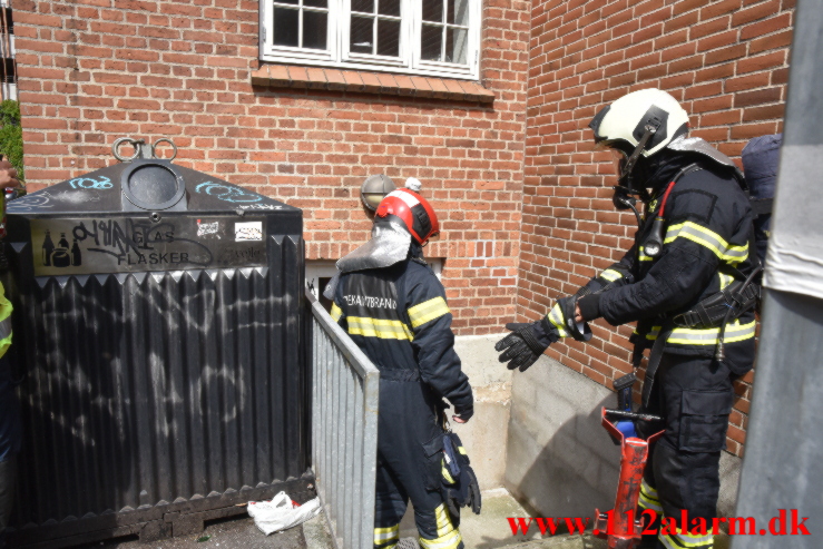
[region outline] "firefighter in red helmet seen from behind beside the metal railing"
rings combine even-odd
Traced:
[[[479,511],[468,458],[467,477],[444,478],[444,440],[454,435],[444,431],[443,399],[464,423],[473,396],[454,352],[445,291],[423,261],[423,245],[439,231],[422,196],[393,190],[378,206],[371,241],[337,262],[324,292],[332,317],[380,370],[375,549],[396,547],[409,500],[423,549],[461,549],[459,507]],[[462,448],[455,453],[464,458]]]

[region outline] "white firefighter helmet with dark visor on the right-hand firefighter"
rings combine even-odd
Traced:
[[[649,157],[688,133],[688,115],[665,91],[641,89],[604,107],[589,128],[600,147],[617,148],[627,156]]]

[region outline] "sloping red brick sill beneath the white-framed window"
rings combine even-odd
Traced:
[[[274,88],[326,89],[455,101],[494,100],[493,91],[467,80],[292,65],[265,63],[252,72],[252,84]]]

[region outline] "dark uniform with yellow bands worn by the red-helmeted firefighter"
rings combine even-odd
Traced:
[[[396,546],[411,499],[423,549],[462,548],[440,493],[439,405],[445,398],[468,419],[473,396],[442,284],[420,259],[346,273],[332,317],[380,369],[374,547]]]

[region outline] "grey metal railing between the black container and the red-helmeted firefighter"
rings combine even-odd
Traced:
[[[310,291],[312,467],[339,549],[372,547],[380,371]]]

